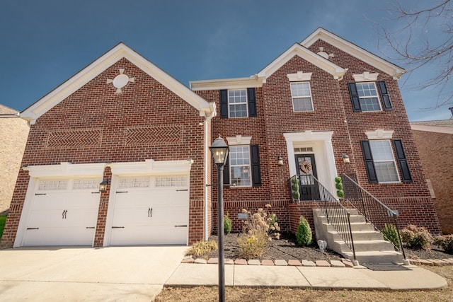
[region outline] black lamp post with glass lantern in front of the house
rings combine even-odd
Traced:
[[[219,301],[225,301],[225,260],[224,260],[224,165],[228,158],[229,146],[222,137],[217,137],[210,146],[212,158],[217,165],[217,233],[219,238]]]

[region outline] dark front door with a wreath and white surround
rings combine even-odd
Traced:
[[[319,190],[313,178],[316,175],[314,154],[296,154],[296,170],[299,174],[300,200],[318,200]]]

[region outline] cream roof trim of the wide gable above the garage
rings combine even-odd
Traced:
[[[142,57],[142,55],[120,42],[96,59],[96,61],[72,76],[69,80],[65,81],[53,91],[50,91],[50,93],[47,93],[47,95],[40,98],[40,100],[33,103],[33,105],[30,105],[23,110],[23,112],[21,112],[21,117],[28,120],[30,124],[34,124],[35,120],[41,115],[44,115],[45,112],[62,102],[62,100],[71,95],[71,93],[74,93],[88,83],[88,81],[96,78],[96,76],[105,71],[105,69],[108,69],[108,67],[122,58],[127,59],[139,69],[142,69],[142,71],[149,74],[149,76],[156,79],[156,81],[159,81],[159,83],[192,105],[195,109],[200,111],[200,116],[207,117],[212,114],[215,115],[214,103],[208,103],[205,99],[201,98],[200,95],[197,95],[165,71],[159,69],[159,67]]]

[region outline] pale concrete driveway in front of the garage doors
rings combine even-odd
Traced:
[[[0,300],[151,301],[187,248],[0,250]]]

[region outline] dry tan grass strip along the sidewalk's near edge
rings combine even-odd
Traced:
[[[226,286],[226,301],[452,301],[453,299],[453,266],[423,267],[447,279],[444,289],[428,291],[355,291],[355,290],[314,290],[314,289],[251,289]],[[164,288],[156,297],[160,301],[217,301],[216,286],[197,286],[191,288]]]

